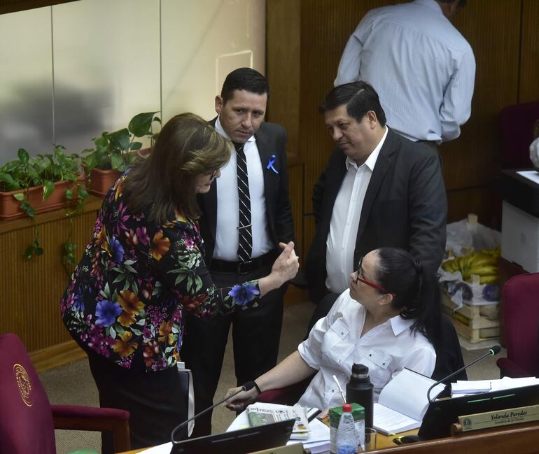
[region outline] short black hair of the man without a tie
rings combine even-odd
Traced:
[[[386,113],[381,108],[378,93],[370,83],[363,80],[337,85],[320,103],[318,111],[325,113],[340,106],[346,106],[346,113],[357,122],[363,120],[368,111],[373,111],[380,125],[386,125]]]

